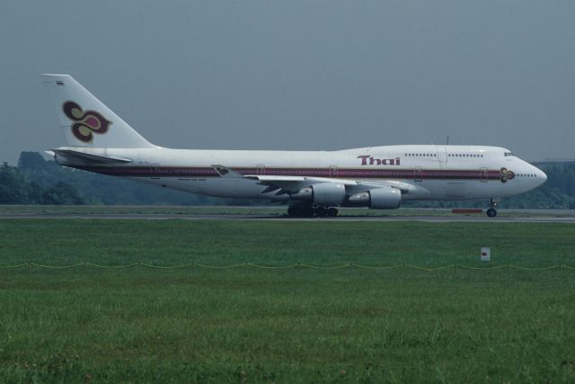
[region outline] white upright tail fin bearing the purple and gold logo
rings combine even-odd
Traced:
[[[40,75],[70,147],[155,147],[69,75]]]

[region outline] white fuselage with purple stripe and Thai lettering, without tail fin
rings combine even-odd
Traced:
[[[61,147],[59,149],[66,149]],[[57,158],[62,165],[101,174],[128,177],[176,190],[228,198],[288,201],[246,175],[303,176],[314,180],[403,183],[408,200],[501,198],[544,183],[544,172],[502,147],[387,146],[337,151],[195,150],[154,148],[73,147],[95,156],[128,158],[127,164],[101,164]],[[240,177],[222,177],[214,165],[224,165]]]

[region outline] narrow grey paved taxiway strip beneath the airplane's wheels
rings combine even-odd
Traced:
[[[0,219],[146,219],[146,220],[263,220],[263,221],[422,221],[422,222],[480,222],[480,223],[570,223],[575,224],[575,215],[569,216],[499,216],[488,218],[482,215],[461,216],[339,216],[337,218],[290,218],[277,215],[215,215],[215,214],[164,214],[164,213],[0,213]]]

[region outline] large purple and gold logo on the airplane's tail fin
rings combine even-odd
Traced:
[[[84,111],[78,103],[64,102],[62,104],[62,112],[71,121],[75,121],[72,126],[72,133],[75,138],[84,143],[91,143],[93,134],[103,135],[108,132],[112,124],[111,121],[106,120],[102,114],[95,111]]]

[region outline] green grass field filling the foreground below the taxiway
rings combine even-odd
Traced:
[[[0,264],[575,266],[575,226],[0,220]],[[575,271],[0,269],[0,382],[572,382]]]

